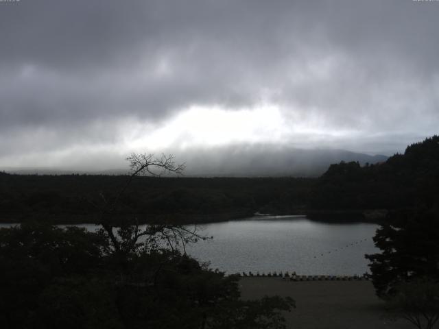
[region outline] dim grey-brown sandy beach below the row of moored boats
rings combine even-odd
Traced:
[[[281,278],[242,278],[242,298],[290,296],[297,308],[285,313],[287,328],[302,329],[410,329],[407,321],[392,321],[370,281],[303,281]]]

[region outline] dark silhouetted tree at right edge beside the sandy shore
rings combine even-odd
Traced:
[[[391,212],[374,237],[379,254],[366,255],[380,297],[401,282],[439,280],[439,212],[434,209]],[[439,297],[439,296],[438,296]]]

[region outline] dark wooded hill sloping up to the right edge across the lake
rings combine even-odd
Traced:
[[[310,197],[313,209],[439,207],[439,136],[381,164],[332,164]]]

